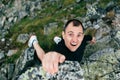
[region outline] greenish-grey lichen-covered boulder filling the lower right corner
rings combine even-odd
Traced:
[[[104,49],[84,62],[85,80],[120,80],[120,50]]]

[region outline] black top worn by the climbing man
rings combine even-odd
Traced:
[[[55,47],[54,51],[59,52],[63,54],[66,57],[66,60],[70,61],[81,61],[83,57],[83,53],[85,50],[85,47],[87,45],[87,42],[92,40],[92,37],[89,35],[85,35],[84,39],[81,43],[81,45],[78,47],[78,49],[74,52],[71,52],[64,43],[64,40],[62,39]]]

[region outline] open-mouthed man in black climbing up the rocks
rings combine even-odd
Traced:
[[[33,45],[43,69],[51,74],[58,72],[58,64],[65,60],[81,61],[87,42],[95,43],[95,38],[84,35],[83,25],[77,19],[69,20],[62,31],[62,40],[56,45],[54,51],[45,54],[39,46],[35,35],[29,40],[29,47]]]

